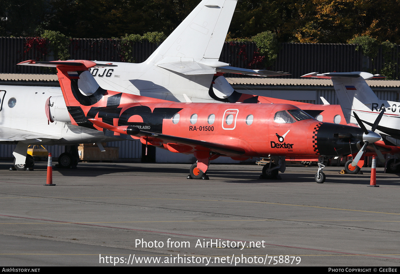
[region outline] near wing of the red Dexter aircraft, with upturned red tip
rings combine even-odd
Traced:
[[[112,130],[114,132],[118,132],[121,134],[128,134],[134,136],[140,136],[145,138],[150,138],[150,140],[154,140],[155,142],[162,142],[162,143],[174,143],[174,144],[183,144],[191,146],[194,150],[209,150],[212,152],[217,152],[219,154],[229,154],[234,156],[240,156],[245,153],[245,150],[238,146],[231,146],[226,144],[218,144],[214,142],[202,141],[202,140],[195,140],[190,138],[148,132],[144,130],[140,130],[135,126],[112,126],[110,124],[101,122],[96,119],[88,119],[92,122],[95,126],[100,128]],[[150,142],[151,144],[151,142]]]

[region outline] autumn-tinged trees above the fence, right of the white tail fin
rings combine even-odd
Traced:
[[[269,30],[279,42],[346,43],[371,36],[400,44],[400,0],[244,0],[236,10],[232,38]]]

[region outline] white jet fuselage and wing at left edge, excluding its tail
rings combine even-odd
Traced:
[[[50,113],[69,118],[60,88],[43,86],[0,86],[0,142],[4,144],[77,144],[108,141],[102,132],[70,123],[48,122],[46,104],[56,96]],[[14,103],[13,103],[14,102]],[[13,106],[14,105],[14,106]],[[10,107],[12,106],[12,107]],[[115,138],[112,138],[113,140]]]

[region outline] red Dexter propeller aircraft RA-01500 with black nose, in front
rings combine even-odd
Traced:
[[[92,61],[29,60],[20,64],[57,68],[66,105],[51,106],[50,121],[59,119],[106,136],[140,139],[146,145],[194,154],[197,163],[190,168],[192,179],[208,178],[210,160],[220,156],[270,156],[273,161],[262,173],[273,178],[278,170],[284,172],[286,155],[347,156],[380,140],[378,134],[361,128],[319,122],[290,104],[183,103],[105,90],[89,72],[96,66]],[[60,104],[60,100],[54,102]],[[68,110],[70,121],[59,112],[51,113],[53,108]],[[325,180],[323,167],[319,164],[315,174],[318,183]]]

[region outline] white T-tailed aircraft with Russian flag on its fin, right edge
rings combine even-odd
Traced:
[[[398,154],[400,152],[400,104],[398,102],[379,100],[370,86],[368,79],[384,79],[386,77],[373,75],[368,72],[329,72],[319,74],[312,72],[301,77],[331,79],[346,123],[372,129],[382,136],[383,141],[375,142],[366,148],[366,156],[378,155],[382,159],[383,154]],[[379,123],[376,120],[379,119]],[[382,151],[382,152],[380,152]],[[354,165],[354,163],[353,163]],[[362,161],[358,166],[362,166]],[[389,172],[398,172],[400,162],[398,158],[392,158],[387,163]],[[346,163],[346,168],[350,163]],[[351,167],[350,167],[351,168]]]

